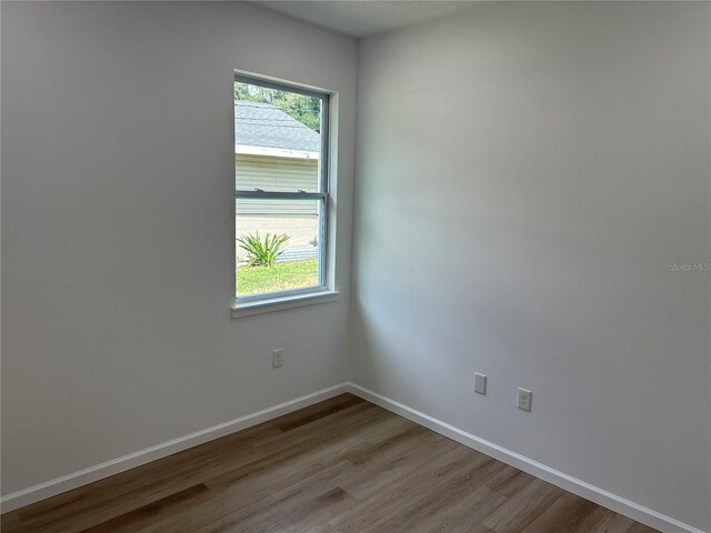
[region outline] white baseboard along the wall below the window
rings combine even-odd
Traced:
[[[40,483],[39,485],[30,486],[29,489],[13,492],[12,494],[8,494],[0,499],[1,512],[7,513],[8,511],[23,507],[24,505],[39,502],[40,500],[56,496],[62,492],[71,491],[72,489],[102,480],[110,475],[134,469],[136,466],[150,463],[157,459],[167,457],[173,453],[182,452],[189,447],[203,444],[214,439],[219,439],[220,436],[229,435],[236,431],[261,424],[268,420],[307,408],[344,392],[348,392],[348,383],[330,386],[312,394],[307,394],[284,403],[280,403],[273,408],[264,409],[246,416],[240,416],[239,419],[224,422],[223,424],[214,425],[207,430],[201,430],[186,436],[173,439],[172,441],[163,442],[162,444],[147,447],[146,450],[141,450],[106,463],[97,464],[96,466],[90,466],[79,472],[63,475],[56,480]]]

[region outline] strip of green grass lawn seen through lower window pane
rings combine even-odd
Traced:
[[[318,283],[317,259],[287,261],[273,266],[238,266],[237,295],[246,296],[259,292],[286,291]]]

